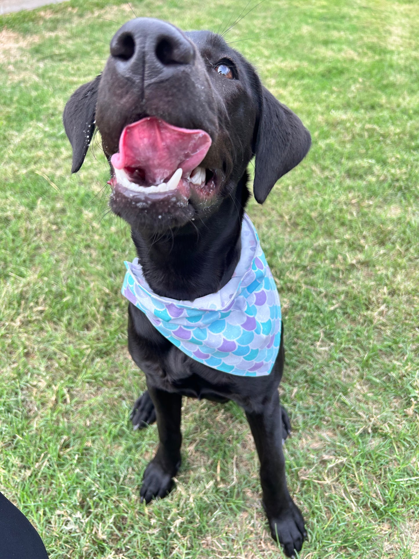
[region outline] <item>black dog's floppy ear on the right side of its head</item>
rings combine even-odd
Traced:
[[[298,116],[277,101],[268,89],[262,89],[253,183],[253,192],[260,204],[275,182],[298,165],[311,145],[310,132]]]

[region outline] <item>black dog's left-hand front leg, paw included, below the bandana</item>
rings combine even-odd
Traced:
[[[159,448],[146,467],[140,490],[141,501],[163,498],[173,487],[173,476],[180,466],[180,409],[182,396],[148,386],[156,410]]]

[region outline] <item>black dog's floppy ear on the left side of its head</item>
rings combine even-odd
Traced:
[[[92,82],[79,87],[64,108],[64,129],[73,148],[72,173],[77,173],[82,167],[93,136],[100,80],[101,77],[98,75]]]

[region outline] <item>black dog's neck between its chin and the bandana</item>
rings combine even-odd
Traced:
[[[155,239],[132,230],[139,263],[151,289],[160,296],[194,300],[220,290],[241,254],[240,231],[249,196],[246,174],[207,220],[185,225]]]

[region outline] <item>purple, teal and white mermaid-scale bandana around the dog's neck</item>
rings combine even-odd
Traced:
[[[241,247],[231,280],[216,293],[194,301],[160,297],[135,258],[125,262],[122,295],[192,359],[231,375],[269,375],[279,350],[281,307],[258,234],[246,214]]]

